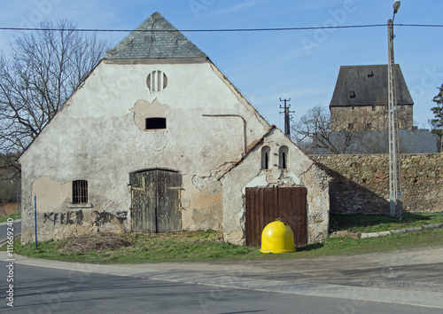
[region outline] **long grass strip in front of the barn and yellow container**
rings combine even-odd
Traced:
[[[102,235],[95,237],[100,238]],[[103,237],[105,239],[97,241],[94,237],[88,236],[84,239],[75,237],[61,241],[39,242],[38,249],[35,249],[35,243],[20,246],[19,240],[16,240],[14,252],[29,257],[83,263],[160,263],[316,258],[443,246],[443,229],[371,239],[330,238],[286,254],[262,254],[260,247],[232,245],[222,241],[221,234],[214,231],[151,235],[128,233],[113,236],[116,237],[113,239],[118,238],[118,241],[121,241],[119,246],[113,246],[113,240],[106,239],[106,235]],[[102,248],[95,248],[96,242]],[[88,246],[94,249],[89,250]]]

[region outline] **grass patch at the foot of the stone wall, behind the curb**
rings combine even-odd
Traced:
[[[334,232],[385,232],[426,224],[443,224],[443,213],[405,213],[402,220],[386,215],[330,215],[330,229]]]

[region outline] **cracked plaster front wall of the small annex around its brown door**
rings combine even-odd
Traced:
[[[269,169],[261,169],[261,147],[270,147]],[[279,148],[289,148],[288,169],[279,169]],[[329,228],[330,177],[301,152],[281,130],[271,130],[263,143],[221,178],[223,186],[223,232],[232,243],[245,243],[245,188],[255,186],[307,187],[308,243],[325,239]]]

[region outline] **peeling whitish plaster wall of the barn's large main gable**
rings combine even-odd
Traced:
[[[146,77],[154,70],[167,75],[168,83],[165,90],[151,93]],[[82,208],[83,217],[94,211],[116,217],[126,212],[117,229],[129,231],[129,173],[143,169],[183,175],[183,229],[220,227],[221,184],[214,178],[242,157],[245,129],[238,117],[204,114],[242,116],[247,145],[269,128],[234,91],[207,59],[102,61],[19,159],[22,241],[33,239],[33,188],[43,191],[39,202],[48,204],[37,208],[39,215],[48,210],[44,208],[51,213],[76,210],[61,201],[71,197],[67,188],[57,196],[49,185],[33,186],[41,177],[51,178],[54,186],[88,180],[91,207]],[[146,117],[159,115],[167,119],[166,130],[143,130]],[[63,230],[45,228],[40,232],[48,238]]]

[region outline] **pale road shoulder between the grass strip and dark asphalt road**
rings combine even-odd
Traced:
[[[6,252],[0,252],[0,259],[7,259]],[[437,279],[437,282],[432,278],[420,281],[420,283],[423,283],[423,287],[426,286],[425,289],[419,289],[421,287],[419,285],[405,288],[383,287],[382,284],[383,282],[398,280],[394,277],[397,269],[399,274],[400,271],[404,272],[406,269],[411,274],[414,273],[414,276],[416,276],[416,273],[423,271],[416,269],[418,266],[426,266],[432,270],[436,266],[441,270],[443,266],[443,263],[441,263],[443,261],[443,247],[398,251],[391,254],[327,256],[315,260],[209,263],[102,265],[48,261],[19,255],[15,255],[14,259],[14,263],[66,271],[85,271],[131,278],[192,283],[208,287],[343,298],[350,302],[392,302],[443,309],[441,290],[443,282],[440,282],[443,279]],[[435,271],[438,271],[438,269]],[[364,279],[361,285],[349,285],[349,282],[355,279],[356,273],[358,276],[363,276],[363,279],[365,276],[369,276],[369,278]],[[415,278],[414,276],[412,278]],[[337,283],[331,283],[330,280],[334,282],[334,277],[341,278],[341,280],[337,280]],[[369,287],[369,280],[379,280],[380,285]]]

